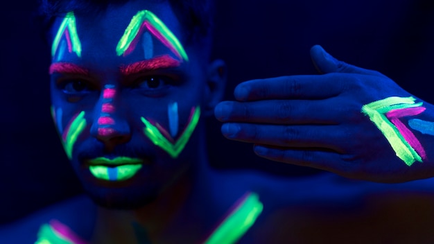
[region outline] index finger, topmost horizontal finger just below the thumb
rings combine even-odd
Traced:
[[[263,80],[249,80],[235,87],[238,101],[262,99],[325,99],[338,96],[345,89],[349,76],[313,75],[281,76]]]

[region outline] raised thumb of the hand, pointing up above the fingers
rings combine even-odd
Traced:
[[[333,58],[329,53],[327,53],[322,46],[315,45],[311,48],[311,58],[313,65],[318,70],[319,73],[359,73],[370,76],[383,76],[382,73],[378,71],[373,71],[370,69],[362,69],[346,62],[337,60]]]

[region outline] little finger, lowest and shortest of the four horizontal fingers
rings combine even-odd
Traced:
[[[318,168],[333,173],[349,171],[348,165],[342,162],[341,155],[335,152],[270,148],[262,145],[255,145],[253,150],[259,157],[276,162]]]

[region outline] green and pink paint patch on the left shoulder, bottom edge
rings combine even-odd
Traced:
[[[58,220],[51,220],[49,224],[40,227],[36,241],[36,244],[49,243],[86,244],[87,242]]]

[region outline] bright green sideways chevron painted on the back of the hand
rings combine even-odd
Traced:
[[[415,103],[415,98],[401,98],[392,96],[380,101],[363,105],[362,112],[370,117],[372,123],[383,133],[384,137],[389,141],[397,157],[405,162],[408,166],[414,162],[422,162],[422,158],[411,147],[406,139],[403,138],[399,130],[388,120],[385,113],[408,107],[420,107],[422,103]]]

